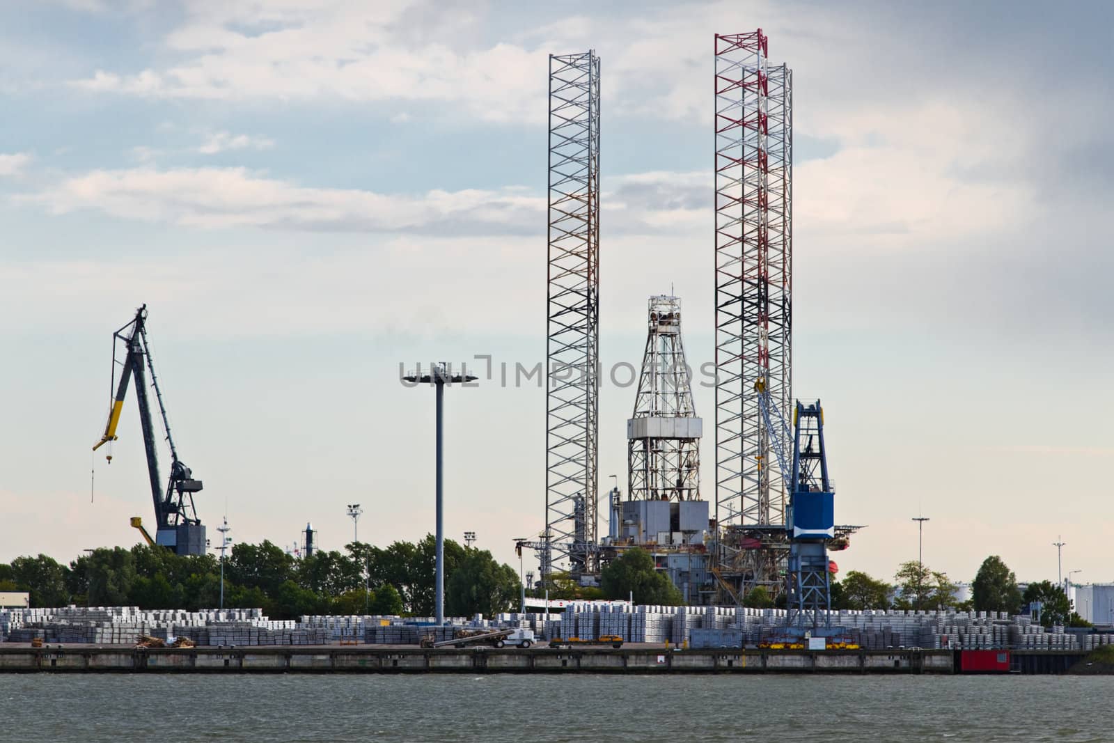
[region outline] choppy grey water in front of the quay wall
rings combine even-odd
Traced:
[[[3,675],[2,741],[1112,741],[1114,677]]]

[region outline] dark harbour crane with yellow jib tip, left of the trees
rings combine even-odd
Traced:
[[[124,398],[134,377],[136,401],[139,403],[139,424],[143,428],[144,448],[147,452],[147,477],[150,482],[152,500],[155,504],[155,542],[169,547],[178,555],[204,555],[205,527],[197,518],[197,509],[194,506],[194,493],[201,491],[202,481],[195,480],[190,469],[178,459],[178,450],[174,446],[166,408],[163,404],[163,393],[158,389],[158,378],[155,375],[155,363],[150,358],[146,323],[145,304],[136,311],[131,322],[113,333],[113,382],[116,382],[116,393],[109,407],[105,433],[92,449],[96,451],[106,443],[116,441],[116,428],[120,422]],[[120,345],[123,345],[123,360],[118,359]],[[120,366],[118,382],[117,365]],[[170,447],[170,477],[165,488],[158,473],[157,441],[147,393],[147,372],[150,372],[150,387],[155,391],[163,429],[166,431],[166,442]],[[107,459],[111,462],[113,456],[109,453]],[[133,519],[134,526],[138,524],[138,519]]]

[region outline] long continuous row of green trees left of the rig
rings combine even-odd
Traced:
[[[270,541],[238,544],[224,564],[224,606],[262,607],[275,619],[304,614],[433,614],[434,540],[388,547],[352,542],[345,551],[287,555]],[[518,574],[488,550],[444,542],[449,616],[491,616],[517,608]],[[367,590],[364,588],[367,584]],[[63,565],[47,555],[0,564],[0,590],[26,590],[32,607],[138,606],[213,608],[221,564],[213,555],[179,556],[164,547],[100,548]]]

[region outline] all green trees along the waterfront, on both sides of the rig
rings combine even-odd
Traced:
[[[388,547],[352,542],[340,551],[296,558],[276,545],[238,544],[225,560],[224,605],[262,607],[276,619],[304,614],[433,614],[434,541],[395,541]],[[444,542],[446,614],[491,616],[517,608],[519,577],[487,550]],[[368,589],[364,589],[367,581]],[[984,560],[971,585],[971,599],[955,598],[956,584],[916,560],[901,564],[893,583],[850,570],[832,581],[834,609],[975,609],[1016,614],[1040,602],[1042,624],[1083,626],[1059,586],[1045,580],[1020,592],[1000,557]],[[138,606],[196,610],[218,605],[221,566],[215,556],[182,557],[163,547],[136,545],[95,549],[62,565],[47,555],[0,564],[0,592],[27,590],[31,606]],[[530,592],[540,595],[540,592]],[[625,599],[637,604],[681,605],[681,592],[656,570],[653,556],[628,549],[606,565],[599,587],[582,587],[558,575],[550,598]],[[759,587],[742,597],[744,606],[785,606],[784,592],[771,596]]]

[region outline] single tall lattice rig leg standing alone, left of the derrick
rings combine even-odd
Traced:
[[[546,529],[541,580],[597,569],[599,58],[549,56]]]

